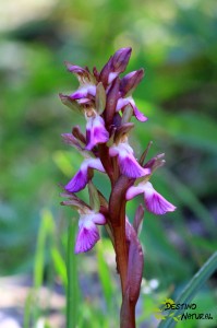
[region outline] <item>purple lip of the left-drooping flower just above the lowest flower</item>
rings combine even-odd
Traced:
[[[70,192],[77,192],[84,189],[87,183],[88,183],[87,167],[83,167],[83,169],[81,168],[74,175],[74,177],[67,184],[64,189]]]

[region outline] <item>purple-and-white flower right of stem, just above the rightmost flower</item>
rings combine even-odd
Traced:
[[[150,173],[149,168],[143,168],[133,155],[133,149],[128,142],[120,142],[118,145],[113,144],[109,149],[111,157],[118,156],[121,174],[130,178],[138,178]]]

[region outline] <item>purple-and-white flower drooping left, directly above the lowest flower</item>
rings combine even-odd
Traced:
[[[88,169],[95,168],[100,172],[105,172],[101,161],[99,159],[87,159],[82,163],[80,171],[67,184],[65,190],[70,192],[77,192],[85,188],[88,183]]]

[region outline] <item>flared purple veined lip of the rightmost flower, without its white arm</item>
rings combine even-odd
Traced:
[[[173,212],[176,207],[167,201],[160,194],[158,194],[150,183],[144,185],[145,189],[145,206],[147,210],[154,214],[165,214]]]

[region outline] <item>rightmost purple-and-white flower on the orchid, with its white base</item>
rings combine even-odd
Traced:
[[[146,209],[154,214],[165,214],[176,210],[176,207],[158,194],[148,181],[142,181],[136,187],[130,187],[125,198],[130,200],[138,194],[144,194]]]

